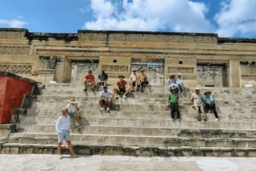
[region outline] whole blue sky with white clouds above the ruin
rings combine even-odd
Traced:
[[[1,0],[0,27],[218,33],[256,38],[256,0]]]

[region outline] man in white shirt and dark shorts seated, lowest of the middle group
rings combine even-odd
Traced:
[[[113,93],[112,91],[108,90],[107,86],[103,87],[103,90],[100,93],[100,100],[99,100],[99,105],[101,106],[101,111],[104,108],[104,105],[107,106],[107,111],[109,111],[109,109],[112,106],[112,101],[113,101]]]

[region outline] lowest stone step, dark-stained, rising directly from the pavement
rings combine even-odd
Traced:
[[[2,154],[56,154],[56,145],[35,145],[5,143]],[[73,145],[77,155],[118,155],[133,157],[256,157],[256,148],[230,147],[165,147],[165,146],[123,146],[123,145]],[[69,154],[67,145],[63,154]]]

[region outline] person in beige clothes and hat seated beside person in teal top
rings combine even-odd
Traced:
[[[203,119],[207,121],[207,114],[204,111],[204,96],[200,93],[199,88],[195,88],[195,93],[191,95],[191,105],[196,111],[197,120],[201,121],[201,113],[203,112]]]

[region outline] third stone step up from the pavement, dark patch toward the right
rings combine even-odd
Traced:
[[[20,133],[55,133],[55,124],[18,126]],[[256,136],[254,129],[209,129],[209,128],[164,128],[164,127],[108,127],[101,125],[72,126],[73,134],[116,134],[116,135],[148,135],[148,136],[177,136],[187,138],[248,138]]]

